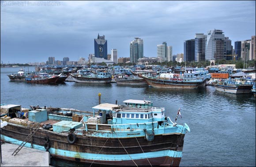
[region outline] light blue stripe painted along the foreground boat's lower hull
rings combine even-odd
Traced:
[[[15,145],[20,145],[22,143],[22,141],[17,141],[14,138],[9,138],[2,134],[1,134],[1,139],[6,142],[11,142],[12,144],[15,144]],[[25,146],[30,147],[31,144],[26,143]],[[33,144],[33,148],[46,151],[45,147],[41,145]],[[131,160],[131,158],[132,160],[139,160],[144,158],[157,158],[157,157],[163,157],[163,156],[169,156],[174,158],[182,157],[182,151],[173,151],[173,150],[145,152],[145,153],[129,154],[129,155],[128,154],[123,154],[123,155],[92,154],[92,153],[84,153],[84,152],[73,152],[73,151],[67,151],[62,149],[53,149],[53,148],[50,148],[49,152],[51,154],[53,154],[54,152],[56,155],[59,155],[59,156],[66,156],[66,157],[72,157],[72,158],[85,157],[84,159],[87,159],[87,160],[104,160],[104,161],[122,161],[122,160]]]

